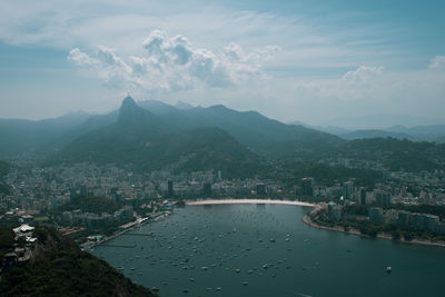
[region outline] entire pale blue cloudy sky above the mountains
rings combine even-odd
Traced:
[[[0,118],[103,113],[130,93],[285,122],[445,122],[445,1],[0,2]]]

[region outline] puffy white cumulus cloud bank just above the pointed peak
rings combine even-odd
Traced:
[[[220,88],[261,78],[263,66],[279,50],[276,46],[266,46],[245,52],[240,46],[230,43],[217,53],[192,47],[184,36],[170,38],[161,30],[151,31],[142,48],[145,53],[130,56],[128,63],[116,55],[116,50],[103,46],[99,47],[97,57],[75,48],[68,59],[90,68],[110,87],[177,91],[199,85]]]

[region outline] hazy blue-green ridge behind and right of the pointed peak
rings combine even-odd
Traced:
[[[236,111],[221,105],[186,110],[158,101],[145,101],[140,106],[180,130],[220,128],[260,154],[285,156],[329,148],[343,142],[340,138],[326,132],[285,125],[256,111]]]

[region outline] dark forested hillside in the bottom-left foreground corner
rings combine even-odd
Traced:
[[[157,296],[56,230],[36,235],[32,260],[2,276],[0,296]]]

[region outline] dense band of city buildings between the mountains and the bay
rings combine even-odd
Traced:
[[[329,166],[380,168],[378,164],[347,159]],[[88,162],[46,167],[20,164],[4,177],[10,191],[0,195],[0,220],[13,222],[14,227],[50,224],[63,234],[82,234],[79,240],[86,240],[110,235],[119,226],[125,229],[142,219],[154,219],[169,209],[171,200],[258,197],[326,201],[327,217],[333,221],[358,219],[431,232],[445,229],[437,215],[403,209],[445,205],[444,170],[400,172],[383,168],[383,179],[372,186],[356,178],[325,184],[323,178],[310,176],[289,182],[286,176],[290,174],[286,169],[276,167],[276,170],[275,179],[259,176],[225,179],[221,170],[135,171],[130,167]],[[352,205],[366,207],[366,215],[345,214]]]

